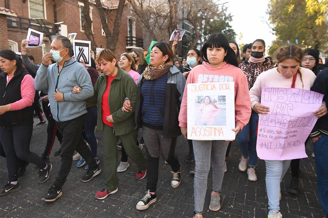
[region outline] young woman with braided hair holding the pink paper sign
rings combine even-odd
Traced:
[[[297,88],[310,90],[316,75],[309,69],[300,67],[302,51],[295,45],[281,47],[277,53],[278,67],[258,75],[250,90],[252,108],[256,113],[267,114],[270,110],[260,104],[262,87]],[[325,106],[315,112],[317,117],[327,113]],[[265,160],[266,189],[269,201],[268,218],[282,217],[279,212],[280,182],[288,170],[291,160]]]

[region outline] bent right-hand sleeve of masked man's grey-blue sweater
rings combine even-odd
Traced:
[[[64,93],[64,101],[83,101],[93,96],[93,86],[91,77],[84,67],[82,67],[76,75],[78,86],[82,88],[78,94],[72,92]]]

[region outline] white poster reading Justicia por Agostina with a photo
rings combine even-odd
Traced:
[[[187,138],[234,140],[235,83],[190,83],[187,89]]]

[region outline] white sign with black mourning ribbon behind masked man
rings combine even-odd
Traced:
[[[73,40],[73,52],[75,60],[91,67],[91,41]]]

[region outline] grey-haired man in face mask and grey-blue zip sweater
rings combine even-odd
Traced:
[[[48,88],[48,96],[53,119],[58,131],[63,135],[61,143],[61,162],[57,177],[47,194],[45,201],[55,201],[62,195],[62,186],[72,167],[72,156],[76,150],[89,165],[89,170],[82,177],[83,182],[90,181],[100,173],[100,168],[81,136],[86,110],[86,99],[93,96],[91,78],[87,70],[70,57],[72,44],[61,35],[52,37],[50,53],[42,57],[42,64],[37,71],[34,86],[36,90]],[[51,59],[56,63],[51,64]],[[82,88],[73,94],[74,86]]]

